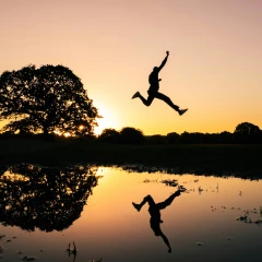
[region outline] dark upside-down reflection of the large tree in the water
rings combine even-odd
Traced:
[[[95,174],[96,168],[90,166],[12,166],[0,177],[0,221],[26,230],[68,228],[97,186]]]

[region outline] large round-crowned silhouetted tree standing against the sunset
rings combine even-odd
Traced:
[[[28,66],[0,75],[2,131],[93,134],[99,115],[81,80],[63,66]]]

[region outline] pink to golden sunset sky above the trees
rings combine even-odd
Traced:
[[[261,0],[0,0],[0,73],[63,64],[83,82],[104,128],[144,134],[262,129]],[[145,107],[162,70],[164,102]],[[1,123],[0,123],[1,124]]]

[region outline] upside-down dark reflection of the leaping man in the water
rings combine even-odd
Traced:
[[[171,252],[171,247],[169,245],[167,237],[164,235],[164,233],[160,229],[160,223],[163,223],[163,221],[160,219],[160,210],[164,210],[168,205],[170,205],[176,196],[179,196],[180,193],[184,191],[186,189],[183,187],[179,187],[179,189],[175,193],[172,193],[168,199],[166,199],[164,202],[160,202],[160,203],[155,203],[155,201],[150,194],[146,195],[140,204],[135,204],[134,202],[132,203],[136,211],[140,211],[146,202],[148,203],[150,205],[148,212],[151,215],[151,219],[150,219],[151,228],[155,233],[156,237],[163,238],[164,242],[168,247],[169,253]]]

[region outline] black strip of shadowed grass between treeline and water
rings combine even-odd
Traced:
[[[0,140],[0,165],[134,164],[176,168],[177,174],[262,177],[262,145],[126,145],[9,139]]]

